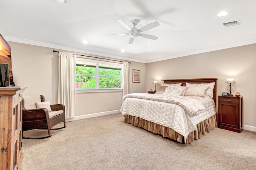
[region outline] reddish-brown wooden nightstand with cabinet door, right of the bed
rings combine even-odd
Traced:
[[[218,128],[241,133],[243,130],[243,97],[218,96]]]

